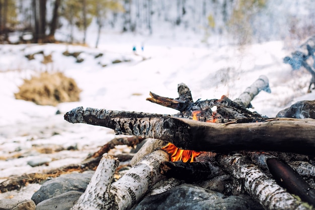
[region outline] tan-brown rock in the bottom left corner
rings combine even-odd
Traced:
[[[36,206],[33,200],[1,199],[1,210],[35,210]]]

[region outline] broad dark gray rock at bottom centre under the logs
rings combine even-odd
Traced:
[[[222,193],[190,184],[183,184],[164,193],[145,197],[134,210],[209,210],[250,209],[248,203],[238,196]]]

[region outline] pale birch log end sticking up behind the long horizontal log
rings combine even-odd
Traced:
[[[244,108],[251,108],[251,101],[262,90],[271,93],[269,80],[264,75],[261,75],[258,80],[248,87],[234,102],[241,104]]]

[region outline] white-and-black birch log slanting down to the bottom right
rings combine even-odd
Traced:
[[[314,209],[293,197],[275,180],[267,177],[246,156],[218,155],[217,160],[234,178],[241,181],[246,192],[259,201],[265,209]]]

